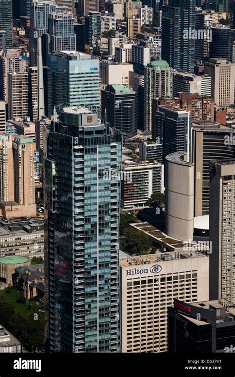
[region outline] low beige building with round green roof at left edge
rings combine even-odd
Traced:
[[[26,266],[29,264],[29,259],[25,256],[3,256],[0,258],[0,279],[7,285],[13,285],[15,268],[19,266]]]

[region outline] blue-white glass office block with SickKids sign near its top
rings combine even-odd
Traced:
[[[99,60],[91,55],[76,51],[49,54],[48,115],[62,103],[96,109],[100,104],[99,80]]]

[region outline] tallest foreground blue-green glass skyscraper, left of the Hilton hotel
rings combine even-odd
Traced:
[[[122,134],[84,108],[57,107],[44,130],[50,352],[120,351],[121,150]]]

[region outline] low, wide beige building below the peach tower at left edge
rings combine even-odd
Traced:
[[[43,220],[0,222],[0,257],[44,258]]]

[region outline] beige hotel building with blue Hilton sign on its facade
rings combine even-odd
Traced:
[[[209,298],[209,257],[194,251],[120,259],[121,352],[166,352],[167,308]]]

